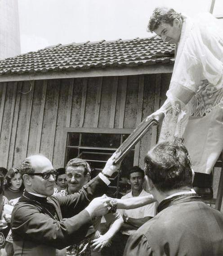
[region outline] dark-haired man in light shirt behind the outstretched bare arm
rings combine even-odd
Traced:
[[[134,166],[133,169],[129,171],[128,182],[131,185],[131,191],[123,196],[121,200],[150,196],[150,194],[143,189],[144,175],[144,171],[138,166]],[[139,227],[156,215],[156,202],[136,209],[119,209],[119,212],[123,217],[124,223],[122,224],[120,232],[116,234],[113,239],[112,247],[108,248],[111,252],[117,252],[117,254],[113,253],[113,255],[123,255],[129,236],[134,234]]]

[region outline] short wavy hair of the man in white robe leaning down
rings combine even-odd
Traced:
[[[181,13],[177,13],[172,8],[156,7],[149,19],[147,31],[153,32],[157,29],[162,22],[168,23],[173,26],[174,19],[181,18]]]

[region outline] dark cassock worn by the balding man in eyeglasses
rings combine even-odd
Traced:
[[[54,256],[56,248],[79,243],[92,225],[85,207],[106,190],[97,176],[78,193],[65,197],[40,198],[25,191],[12,213],[14,256]]]

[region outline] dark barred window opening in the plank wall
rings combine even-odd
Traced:
[[[91,178],[103,170],[107,160],[122,144],[129,134],[111,133],[77,133],[69,132],[67,135],[66,164],[75,157],[85,159],[91,167]],[[128,171],[134,165],[134,149],[125,157],[121,164],[121,177],[128,177]],[[117,175],[111,180],[110,195],[114,196],[117,186]],[[125,193],[129,186],[120,182],[120,192]]]

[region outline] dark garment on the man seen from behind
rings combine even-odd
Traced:
[[[223,256],[223,215],[196,194],[163,200],[130,236],[124,256]]]

